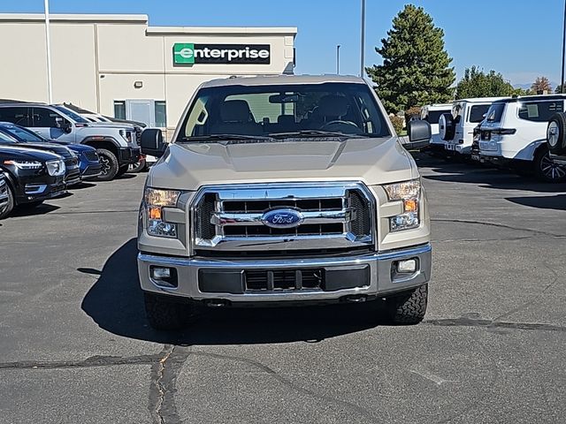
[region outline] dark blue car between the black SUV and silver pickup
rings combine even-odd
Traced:
[[[50,144],[58,145],[68,148],[77,155],[79,159],[80,180],[88,180],[96,178],[102,172],[102,164],[98,160],[96,148],[91,148],[85,144],[70,143],[68,141],[56,141],[44,139],[41,135],[19,125],[0,122],[0,132],[11,135],[20,142],[27,142],[32,144]],[[67,169],[73,168],[72,163],[65,162]]]

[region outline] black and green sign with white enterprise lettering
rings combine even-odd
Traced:
[[[269,44],[173,44],[173,64],[270,64]]]

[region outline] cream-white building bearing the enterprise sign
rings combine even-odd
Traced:
[[[50,15],[53,102],[177,125],[195,88],[292,73],[295,27],[149,27],[147,15]],[[0,14],[0,98],[48,102],[45,18]]]

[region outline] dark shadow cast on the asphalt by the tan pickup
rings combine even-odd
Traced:
[[[135,239],[130,239],[111,255],[102,270],[78,269],[99,276],[83,299],[82,310],[100,328],[119,336],[171,345],[317,342],[385,322],[371,303],[293,308],[203,308],[187,330],[156,331],[149,327],[145,318],[136,255]]]

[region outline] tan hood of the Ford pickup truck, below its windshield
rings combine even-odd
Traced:
[[[297,181],[363,181],[367,186],[417,177],[396,137],[171,144],[149,171],[148,186],[201,186]]]

